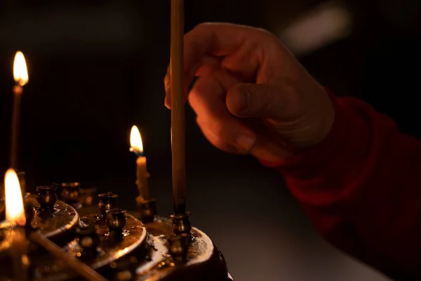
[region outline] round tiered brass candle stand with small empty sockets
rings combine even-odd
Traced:
[[[145,209],[121,209],[112,192],[98,195],[96,206],[72,198],[77,209],[62,202],[56,190],[57,185],[42,185],[37,195],[25,196],[30,280],[231,280],[222,254],[192,227],[189,213],[171,218],[154,213],[144,222],[138,218]],[[0,224],[0,253],[6,231]],[[0,272],[11,277],[8,263],[1,266],[2,256]]]

